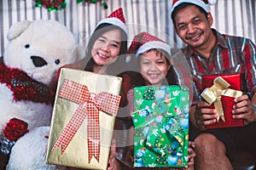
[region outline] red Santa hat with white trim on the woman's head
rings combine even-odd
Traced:
[[[118,26],[120,29],[125,31],[128,36],[127,26],[125,25],[125,17],[123,14],[123,8],[118,8],[113,13],[108,15],[108,18],[101,20],[96,27],[102,24],[110,24],[113,26]]]

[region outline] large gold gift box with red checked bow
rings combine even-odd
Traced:
[[[107,169],[122,79],[61,69],[45,161]]]

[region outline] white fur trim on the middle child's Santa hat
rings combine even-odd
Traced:
[[[154,49],[154,48],[165,50],[166,53],[171,56],[171,47],[165,42],[160,42],[160,41],[152,41],[152,42],[144,43],[140,48],[137,49],[136,55],[143,54],[149,49]]]

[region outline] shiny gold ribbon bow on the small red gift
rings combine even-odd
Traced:
[[[222,77],[216,77],[213,80],[213,85],[211,88],[206,88],[201,93],[201,97],[207,101],[209,104],[214,104],[215,109],[218,113],[217,122],[219,117],[225,122],[224,111],[221,104],[221,96],[228,96],[237,98],[242,95],[241,91],[230,89],[230,84],[226,82]]]

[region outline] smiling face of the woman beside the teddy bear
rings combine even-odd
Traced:
[[[112,64],[119,55],[121,47],[121,32],[118,29],[106,31],[96,39],[91,56],[96,65]]]

